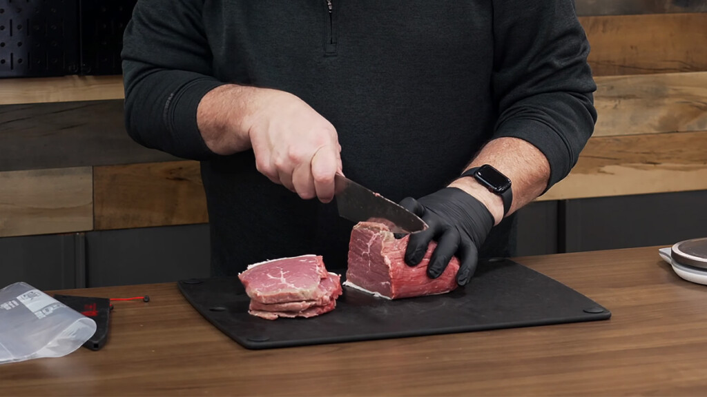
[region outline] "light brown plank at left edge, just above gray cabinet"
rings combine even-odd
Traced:
[[[0,237],[93,229],[91,185],[90,167],[0,172]]]

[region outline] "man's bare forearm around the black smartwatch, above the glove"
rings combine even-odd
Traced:
[[[508,213],[517,211],[542,194],[550,176],[550,165],[542,152],[519,138],[497,138],[484,146],[468,168],[489,164],[510,179],[513,204]],[[450,186],[460,188],[484,203],[495,224],[503,219],[503,201],[473,178],[457,179]]]

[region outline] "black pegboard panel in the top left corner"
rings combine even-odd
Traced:
[[[78,72],[77,0],[0,0],[0,77]]]

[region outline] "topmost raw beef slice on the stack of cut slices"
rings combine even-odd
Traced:
[[[265,304],[318,300],[326,294],[319,285],[327,277],[316,255],[255,263],[238,275],[250,299]]]

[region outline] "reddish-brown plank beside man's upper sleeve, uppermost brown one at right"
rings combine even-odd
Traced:
[[[595,76],[707,71],[707,13],[584,16]]]

